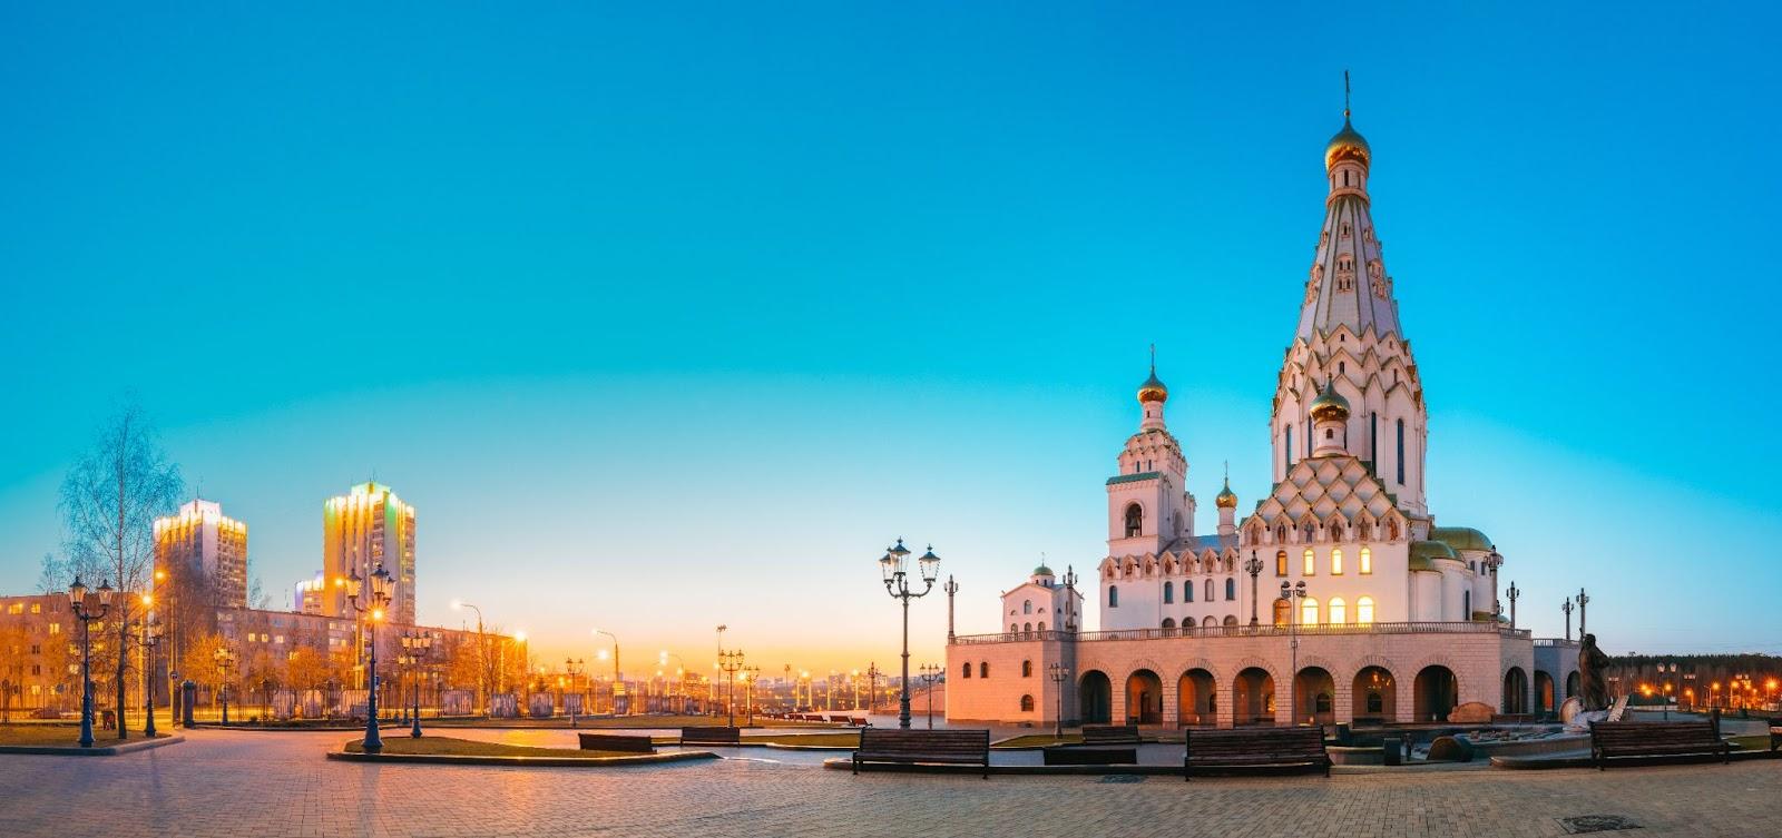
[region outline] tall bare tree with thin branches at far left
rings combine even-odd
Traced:
[[[118,626],[118,738],[128,737],[123,710],[130,657],[123,651],[130,648],[130,608],[153,571],[155,518],[171,512],[182,491],[180,468],[168,463],[153,427],[134,404],[105,423],[62,480],[66,569],[89,580],[114,580],[119,592],[105,621]]]

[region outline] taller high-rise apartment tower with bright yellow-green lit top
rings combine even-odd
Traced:
[[[339,580],[356,573],[365,594],[371,573],[383,564],[390,585],[390,621],[415,623],[415,507],[403,504],[388,486],[362,482],[346,495],[323,504],[323,573],[328,591],[323,614],[351,616],[346,585]]]

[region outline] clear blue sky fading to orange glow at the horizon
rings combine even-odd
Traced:
[[[1148,343],[1199,525],[1267,489],[1349,68],[1438,520],[1538,632],[1782,649],[1773,7],[631,5],[0,11],[0,589],[134,391],[280,598],[374,471],[544,655],[891,664],[896,536],[993,630]]]

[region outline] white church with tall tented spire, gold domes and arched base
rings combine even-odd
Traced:
[[[1094,584],[1041,566],[1001,596],[1005,632],[950,637],[950,721],[1411,722],[1565,699],[1575,680],[1547,669],[1570,669],[1550,653],[1566,642],[1508,624],[1504,557],[1426,504],[1422,379],[1374,233],[1372,153],[1347,112],[1324,164],[1324,228],[1274,391],[1274,489],[1240,520],[1226,482],[1217,530],[1192,532],[1189,461],[1153,365],[1107,480]]]

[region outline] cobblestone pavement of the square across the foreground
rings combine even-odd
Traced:
[[[747,760],[481,769],[323,760],[342,733],[198,731],[114,758],[0,756],[0,836],[1554,836],[1623,815],[1782,836],[1782,761],[1256,779],[953,778]],[[1613,833],[1611,833],[1613,834]]]

